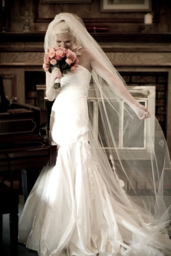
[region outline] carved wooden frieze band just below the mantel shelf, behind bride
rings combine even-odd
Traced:
[[[128,51],[128,50],[127,50]],[[171,52],[107,52],[114,66],[171,66]],[[0,66],[42,66],[43,52],[3,52]]]

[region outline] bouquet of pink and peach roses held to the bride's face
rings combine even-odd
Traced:
[[[78,66],[78,59],[76,54],[69,49],[62,47],[48,48],[44,56],[43,69],[49,73],[57,67],[62,74],[67,72],[74,72]],[[60,78],[55,80],[54,89],[60,88]]]

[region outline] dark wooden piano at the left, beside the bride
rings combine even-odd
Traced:
[[[57,147],[47,137],[47,111],[9,102],[0,77],[0,172],[22,170],[25,201],[39,170],[56,163]]]

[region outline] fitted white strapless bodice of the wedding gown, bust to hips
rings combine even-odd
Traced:
[[[80,140],[88,131],[90,79],[91,73],[82,66],[77,66],[73,73],[65,74],[61,79],[50,120],[50,138],[60,146]]]

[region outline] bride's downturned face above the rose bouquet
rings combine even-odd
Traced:
[[[69,33],[56,35],[56,46],[71,49],[74,42],[74,38]]]

